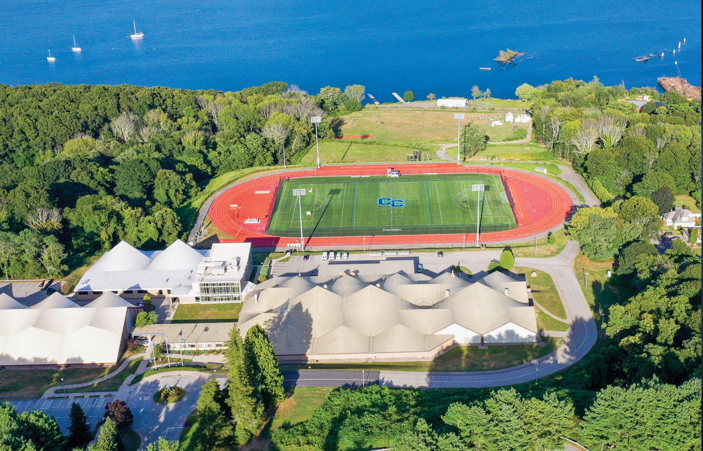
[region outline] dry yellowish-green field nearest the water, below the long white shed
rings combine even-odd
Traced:
[[[488,115],[498,120],[501,112],[491,112]],[[465,112],[468,121],[486,126],[481,113]],[[335,123],[336,121],[336,123]],[[527,125],[527,124],[524,124]],[[433,110],[382,110],[369,108],[353,112],[333,119],[333,126],[340,127],[344,136],[373,135],[378,143],[427,143],[436,141],[443,143],[456,142],[456,119],[454,111]],[[490,121],[486,134],[492,141],[502,141],[512,135],[512,126],[503,125],[491,127]]]

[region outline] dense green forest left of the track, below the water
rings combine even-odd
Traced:
[[[314,140],[311,116],[361,109],[363,86],[346,91],[0,85],[2,276],[57,277],[67,256],[184,237],[192,224],[176,211],[203,183],[295,160]],[[333,136],[326,121],[318,133]]]

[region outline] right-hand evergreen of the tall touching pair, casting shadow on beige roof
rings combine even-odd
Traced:
[[[244,358],[252,383],[262,392],[264,407],[269,409],[282,402],[285,399],[283,374],[280,374],[278,358],[273,352],[269,336],[259,325],[254,325],[247,331]]]

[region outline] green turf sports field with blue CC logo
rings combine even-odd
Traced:
[[[292,178],[278,190],[268,231],[300,236],[298,201],[292,190],[302,188],[306,237],[476,233],[478,197],[471,191],[476,183],[486,185],[481,231],[515,228],[499,176],[443,174]]]

